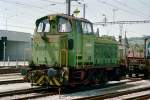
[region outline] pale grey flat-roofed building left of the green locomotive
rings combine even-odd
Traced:
[[[0,30],[0,60],[28,60],[30,55],[30,33]]]

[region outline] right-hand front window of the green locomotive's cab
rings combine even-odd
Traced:
[[[58,19],[58,32],[71,32],[71,23],[68,19],[60,17]]]

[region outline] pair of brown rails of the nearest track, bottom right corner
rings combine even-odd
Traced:
[[[118,96],[122,96],[122,95],[127,95],[127,94],[131,94],[131,93],[142,92],[142,91],[147,91],[147,90],[150,90],[150,87],[120,91],[120,92],[115,92],[115,93],[107,93],[107,94],[103,94],[103,95],[78,98],[78,99],[74,99],[74,100],[104,100],[104,99],[114,98],[114,97],[118,97]],[[127,100],[137,100],[138,98],[149,98],[149,97],[150,97],[150,95],[143,95],[143,96],[139,96],[139,97],[129,98]],[[138,100],[143,100],[143,99],[138,99]]]

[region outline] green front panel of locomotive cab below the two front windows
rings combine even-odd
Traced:
[[[65,61],[67,39],[65,35],[47,35],[42,38],[40,34],[34,36],[32,58],[37,65],[58,67]]]

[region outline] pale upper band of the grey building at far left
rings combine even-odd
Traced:
[[[22,42],[31,41],[31,34],[25,32],[0,30],[0,38],[1,37],[7,37],[8,41],[22,41]]]

